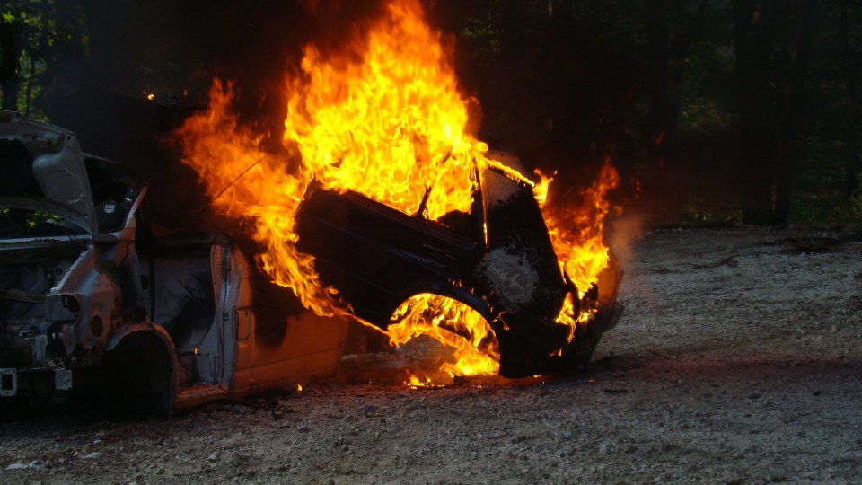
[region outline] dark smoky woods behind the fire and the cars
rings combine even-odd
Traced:
[[[653,223],[862,225],[858,2],[424,4],[463,93],[481,104],[479,137],[559,170],[559,200],[610,156],[618,202]],[[11,0],[0,6],[0,102],[75,129],[86,151],[155,159],[154,133],[205,105],[213,76],[237,81],[245,122],[279,126],[302,46],[338,48],[382,10]]]

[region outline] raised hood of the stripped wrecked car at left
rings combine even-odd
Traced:
[[[75,134],[0,111],[0,206],[44,211],[96,234],[84,156]]]

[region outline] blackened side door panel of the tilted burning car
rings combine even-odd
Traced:
[[[312,187],[300,210],[297,249],[314,256],[321,280],[357,316],[385,326],[409,296],[448,295],[453,282],[469,277],[484,252],[480,207],[432,221],[356,192]]]

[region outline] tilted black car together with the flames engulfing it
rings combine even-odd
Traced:
[[[283,113],[243,121],[235,84],[214,80],[209,110],[174,133],[208,207],[304,306],[393,345],[430,335],[456,348],[450,375],[583,364],[621,313],[603,242],[619,175],[605,163],[584,207],[547,204],[550,178],[473,134],[476,100],[422,4],[390,0],[363,26],[303,48],[273,96]]]

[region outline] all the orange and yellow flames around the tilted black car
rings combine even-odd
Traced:
[[[471,100],[459,93],[440,33],[428,27],[418,1],[392,0],[387,11],[339,55],[304,48],[301,74],[285,88],[286,150],[272,154],[260,147],[262,136],[242,126],[232,110],[233,85],[220,81],[211,89],[210,110],[187,119],[178,131],[184,163],[205,182],[210,207],[238,221],[266,248],[257,256],[259,267],[321,315],[345,310],[336,291],[321,283],[312,258],[295,249],[297,210],[312,181],[435,220],[470,210],[476,167],[501,166],[468,131]],[[549,178],[540,174],[541,181],[532,182],[506,170],[547,202]],[[585,193],[588,206],[553,214],[542,209],[561,270],[582,295],[608,263],[602,242],[605,194],[618,180],[606,163]],[[576,315],[573,308],[568,301],[558,317],[572,331],[589,318],[589,311]],[[488,323],[451,299],[414,296],[393,315],[387,333],[396,346],[424,334],[455,348],[457,361],[442,369],[451,375],[497,373]],[[421,385],[418,379],[414,385]]]

